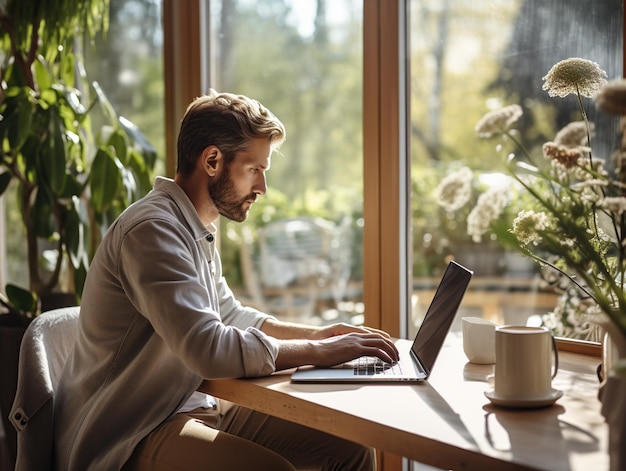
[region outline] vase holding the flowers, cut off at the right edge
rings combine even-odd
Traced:
[[[616,366],[626,361],[626,338],[611,326],[605,328],[598,398],[609,427],[610,470],[622,471],[626,469],[626,375]]]

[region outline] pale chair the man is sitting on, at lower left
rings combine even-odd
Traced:
[[[52,469],[53,397],[76,338],[78,306],[36,317],[20,347],[17,391],[9,419],[17,430],[15,469]]]

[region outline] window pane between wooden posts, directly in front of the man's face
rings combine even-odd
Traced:
[[[209,18],[209,86],[287,128],[267,194],[220,221],[226,279],[282,318],[361,323],[362,2],[212,0]]]

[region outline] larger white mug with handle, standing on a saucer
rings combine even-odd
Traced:
[[[499,399],[535,400],[552,393],[559,368],[556,342],[545,327],[496,329],[494,392]],[[554,366],[552,352],[554,351]],[[553,370],[553,371],[551,371]]]

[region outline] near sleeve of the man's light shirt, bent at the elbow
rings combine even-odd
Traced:
[[[277,341],[255,328],[266,317],[237,308],[228,286],[216,283],[206,265],[182,224],[151,218],[125,233],[118,269],[130,301],[188,368],[204,378],[271,374]],[[222,296],[232,325],[222,322]]]

